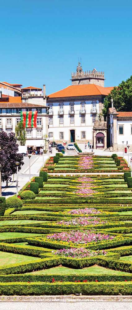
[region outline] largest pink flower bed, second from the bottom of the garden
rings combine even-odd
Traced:
[[[87,244],[88,242],[92,241],[103,241],[115,238],[115,236],[105,235],[101,233],[95,233],[90,230],[71,230],[70,232],[58,232],[54,233],[53,235],[48,235],[46,237],[52,241],[65,241],[65,242],[72,242],[73,244]]]

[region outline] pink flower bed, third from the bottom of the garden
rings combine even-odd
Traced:
[[[101,221],[98,217],[80,217],[74,218],[70,221],[60,221],[57,224],[59,225],[73,225],[73,226],[86,226],[86,225],[97,225],[97,224],[106,224],[107,221]]]

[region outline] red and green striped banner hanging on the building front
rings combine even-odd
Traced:
[[[25,128],[37,127],[37,111],[21,111],[20,115]]]

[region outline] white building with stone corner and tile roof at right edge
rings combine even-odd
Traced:
[[[132,151],[132,112],[117,112],[115,108],[109,108],[107,130],[107,146],[111,150],[121,151],[123,144],[124,147],[128,144]]]

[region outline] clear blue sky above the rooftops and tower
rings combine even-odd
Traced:
[[[132,74],[131,0],[12,0],[0,4],[0,81],[46,84],[47,95],[82,68],[105,73],[105,86]]]

